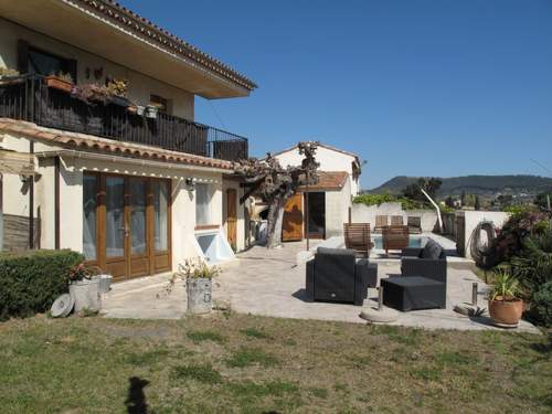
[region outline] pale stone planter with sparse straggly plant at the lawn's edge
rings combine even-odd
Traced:
[[[209,266],[201,257],[189,258],[179,265],[167,287],[167,293],[172,291],[178,279],[185,283],[188,312],[193,315],[209,314],[213,307],[212,279],[221,273],[217,266]]]

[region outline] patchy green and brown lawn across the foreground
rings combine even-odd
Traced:
[[[240,315],[36,317],[0,323],[0,411],[550,413],[551,340]]]

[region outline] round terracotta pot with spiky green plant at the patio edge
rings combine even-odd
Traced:
[[[518,280],[506,269],[495,272],[489,291],[489,314],[497,326],[516,327],[523,312]]]

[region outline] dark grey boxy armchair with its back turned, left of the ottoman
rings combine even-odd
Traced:
[[[318,247],[307,262],[307,300],[352,302],[362,306],[368,288],[378,283],[378,265],[357,259],[354,251]]]

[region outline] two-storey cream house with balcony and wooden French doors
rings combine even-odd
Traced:
[[[232,161],[248,142],[197,123],[194,97],[246,97],[251,79],[91,0],[0,0],[0,71],[3,251],[71,248],[125,279],[244,248]],[[126,96],[86,99],[115,79]]]

